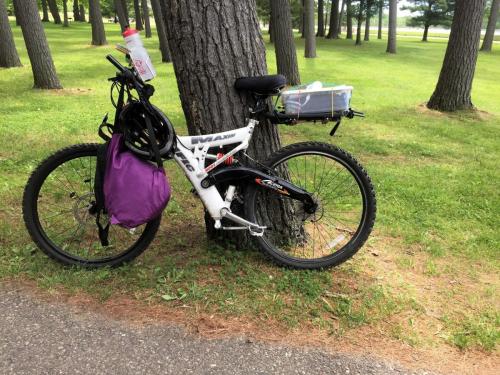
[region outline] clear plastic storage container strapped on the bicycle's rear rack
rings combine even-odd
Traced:
[[[332,117],[349,110],[352,89],[352,86],[325,87],[321,82],[313,82],[284,90],[280,97],[286,115]]]

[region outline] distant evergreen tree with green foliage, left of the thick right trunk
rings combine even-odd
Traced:
[[[424,28],[423,42],[427,42],[430,26],[451,25],[455,0],[408,0],[408,2],[413,5],[404,6],[401,9],[409,10],[417,15],[410,17],[406,24]]]

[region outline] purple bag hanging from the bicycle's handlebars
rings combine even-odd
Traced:
[[[106,155],[104,205],[111,224],[135,228],[158,217],[170,199],[165,170],[139,159],[113,134]]]

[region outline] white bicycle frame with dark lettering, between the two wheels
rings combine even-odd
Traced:
[[[182,168],[189,181],[191,181],[208,213],[215,220],[216,229],[248,229],[251,234],[256,236],[261,236],[264,233],[264,227],[231,213],[230,206],[234,198],[235,186],[230,185],[224,197],[221,196],[215,186],[208,188],[201,186],[201,181],[208,176],[208,172],[224,163],[237,152],[245,151],[248,148],[254,128],[258,123],[257,120],[250,119],[247,126],[235,130],[207,135],[177,137],[174,160]],[[220,159],[217,159],[216,155],[208,154],[208,150],[212,147],[229,144],[237,145]],[[207,159],[214,160],[214,162],[205,167],[205,160]],[[221,219],[224,217],[242,226],[222,227]]]

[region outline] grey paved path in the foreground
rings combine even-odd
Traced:
[[[10,288],[13,289],[13,288]],[[0,288],[0,374],[410,374],[316,349],[135,327]]]

